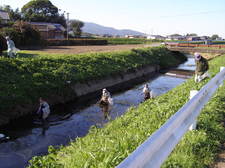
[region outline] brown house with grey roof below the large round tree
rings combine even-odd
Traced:
[[[43,39],[64,39],[66,29],[58,23],[30,22],[33,28],[40,32]]]

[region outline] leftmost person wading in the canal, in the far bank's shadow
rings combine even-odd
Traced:
[[[49,104],[42,98],[39,98],[40,106],[38,108],[37,114],[39,115],[42,122],[42,135],[45,135],[46,130],[48,129],[47,118],[50,114]]]

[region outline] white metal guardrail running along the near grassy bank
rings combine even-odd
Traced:
[[[221,68],[220,73],[121,162],[117,168],[159,168],[191,125],[195,125],[201,109],[210,100],[224,79],[225,68]]]

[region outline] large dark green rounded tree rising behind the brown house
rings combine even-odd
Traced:
[[[59,23],[66,26],[64,14],[49,0],[31,0],[22,7],[25,21]]]

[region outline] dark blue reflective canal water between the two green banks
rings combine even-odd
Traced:
[[[177,69],[194,70],[193,58],[188,58]],[[112,94],[114,106],[110,112],[111,120],[124,114],[131,106],[137,106],[143,101],[142,89],[148,83],[153,93],[158,96],[183,83],[185,79],[159,74],[153,79],[133,88]],[[76,137],[85,136],[90,127],[103,127],[108,120],[104,119],[101,109],[96,105],[98,100],[92,100],[82,105],[70,105],[61,115],[51,115],[51,122],[42,135],[42,127],[31,121],[18,122],[9,126],[1,133],[11,138],[0,144],[0,168],[25,167],[28,161],[36,155],[47,153],[48,146],[66,145]]]

